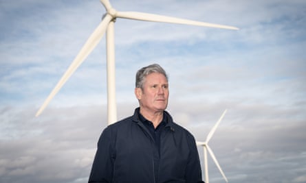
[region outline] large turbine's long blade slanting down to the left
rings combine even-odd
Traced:
[[[63,87],[65,82],[67,82],[69,77],[74,73],[74,71],[76,71],[78,66],[82,64],[82,62],[85,60],[85,58],[87,58],[89,53],[91,53],[91,51],[94,50],[96,45],[98,45],[98,42],[105,34],[107,25],[109,24],[111,19],[113,18],[110,15],[105,16],[103,21],[98,25],[98,27],[91,34],[91,36],[89,36],[87,42],[85,43],[83,48],[80,49],[80,52],[78,53],[78,55],[76,56],[72,64],[70,64],[69,68],[67,69],[67,71],[65,72],[61,80],[59,80],[58,84],[56,84],[56,86],[54,87],[50,95],[47,97],[47,99],[45,99],[45,102],[43,103],[41,108],[39,108],[39,110],[36,112],[36,115],[35,115],[36,117],[38,117],[41,114],[41,112],[43,112],[47,104],[50,103],[52,98],[56,95],[56,93],[58,93],[58,90],[60,90]]]

